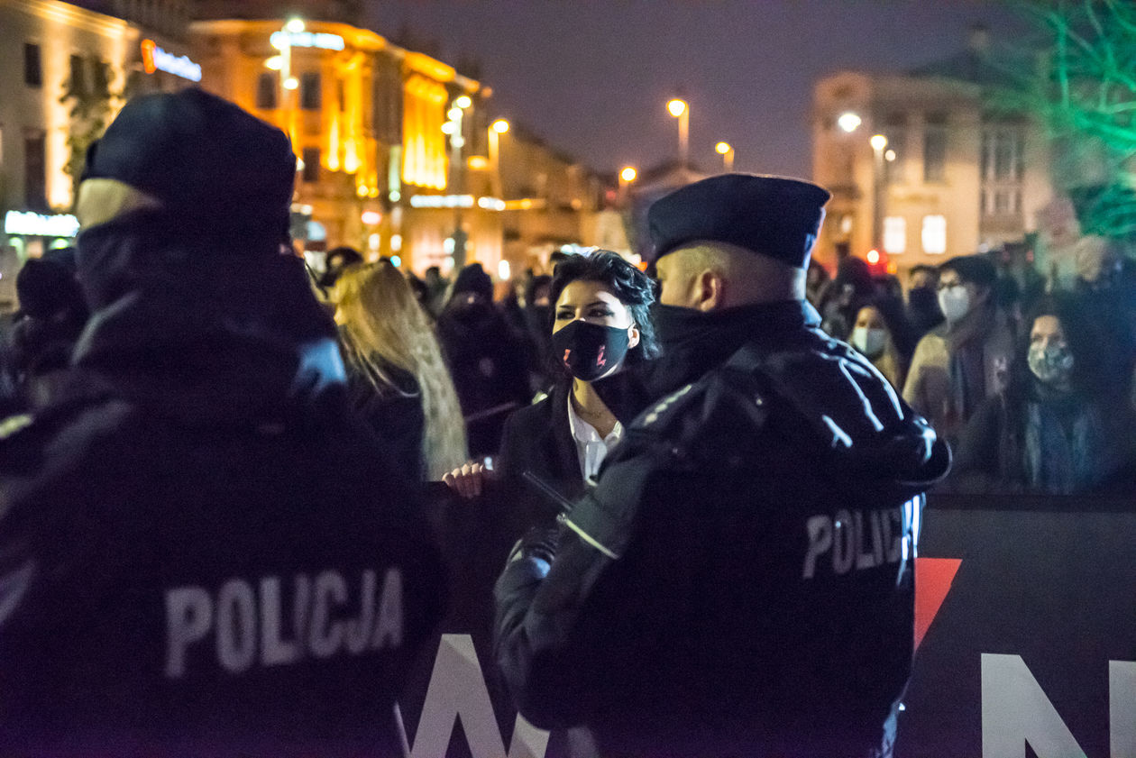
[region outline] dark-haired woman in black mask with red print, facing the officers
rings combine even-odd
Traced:
[[[506,423],[494,475],[526,503],[520,522],[551,522],[558,513],[533,477],[573,500],[623,435],[623,425],[592,382],[658,352],[649,316],[653,301],[651,280],[618,253],[598,250],[557,266],[552,319],[545,324],[556,380],[544,399]],[[476,497],[485,474],[479,465],[467,464],[445,481],[460,494]]]

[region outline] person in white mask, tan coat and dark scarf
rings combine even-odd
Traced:
[[[903,399],[950,441],[1010,378],[1013,332],[995,303],[995,283],[985,256],[958,256],[939,267],[945,323],[919,340],[903,385]]]

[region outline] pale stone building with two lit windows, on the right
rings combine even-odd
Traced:
[[[813,89],[813,180],[833,192],[813,257],[872,249],[896,272],[999,249],[1052,201],[1045,136],[987,107],[980,30],[959,59],[902,75],[841,72]]]

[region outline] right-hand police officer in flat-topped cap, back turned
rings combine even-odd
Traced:
[[[950,451],[804,301],[828,198],[730,174],[651,207],[658,399],[496,586],[534,724],[610,756],[891,756]]]

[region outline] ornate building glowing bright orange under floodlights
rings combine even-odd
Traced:
[[[202,86],[292,138],[293,235],[307,253],[346,244],[421,272],[453,265],[446,259],[461,228],[467,260],[496,265],[500,211],[466,199],[468,150],[443,132],[460,101],[458,136],[473,148],[485,97],[478,82],[337,20],[198,20],[191,35]]]

